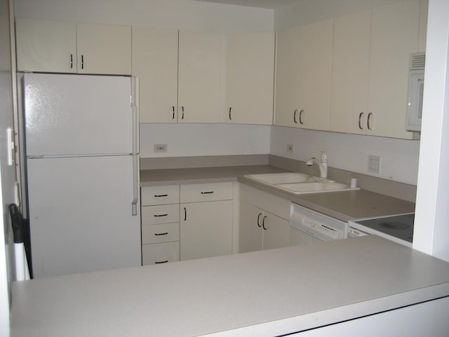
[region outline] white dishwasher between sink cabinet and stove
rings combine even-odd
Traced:
[[[290,203],[290,246],[347,239],[348,224]]]

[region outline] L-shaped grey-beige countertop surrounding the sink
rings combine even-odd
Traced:
[[[342,221],[415,211],[413,202],[367,190],[301,194],[299,196],[244,177],[247,174],[286,171],[269,165],[144,170],[140,171],[140,186],[239,181]]]

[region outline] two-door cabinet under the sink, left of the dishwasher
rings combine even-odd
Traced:
[[[289,207],[287,199],[241,185],[239,253],[288,246]]]

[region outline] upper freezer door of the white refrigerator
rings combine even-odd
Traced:
[[[130,77],[25,74],[27,157],[133,152]]]

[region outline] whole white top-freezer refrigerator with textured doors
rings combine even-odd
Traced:
[[[141,265],[133,77],[24,74],[34,278]]]

